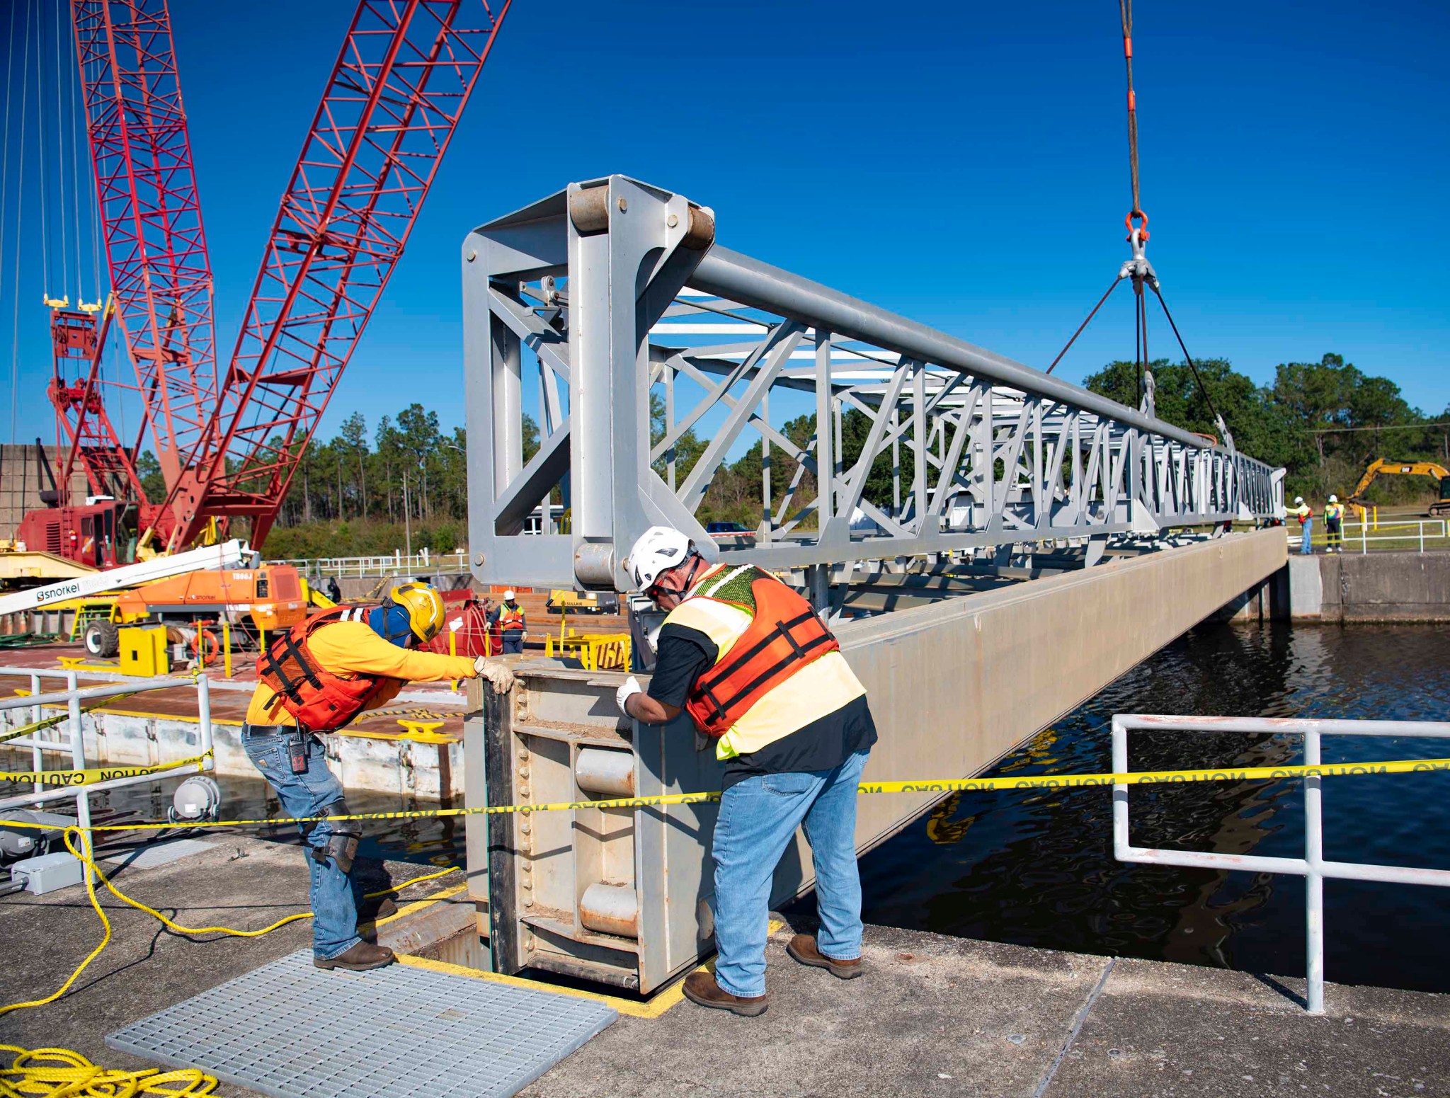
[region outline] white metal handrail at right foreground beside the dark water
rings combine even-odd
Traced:
[[[1115,714],[1112,718],[1112,770],[1128,772],[1128,732],[1141,730],[1179,732],[1247,732],[1304,737],[1304,764],[1320,766],[1324,735],[1415,735],[1450,738],[1450,724],[1438,721],[1314,721],[1293,717],[1160,717]],[[1225,767],[1232,770],[1232,767]],[[1450,888],[1450,870],[1380,866],[1366,862],[1324,860],[1324,806],[1321,779],[1286,775],[1304,782],[1304,857],[1222,854],[1205,850],[1135,847],[1128,841],[1128,786],[1112,788],[1112,851],[1119,862],[1193,869],[1246,869],[1251,873],[1293,873],[1305,879],[1306,1007],[1324,1012],[1324,879],[1382,880],[1398,885]]]

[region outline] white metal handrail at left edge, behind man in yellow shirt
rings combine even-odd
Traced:
[[[44,719],[42,709],[46,705],[64,705],[67,708],[67,719],[64,724],[42,728],[33,735],[19,737],[3,744],[4,747],[29,747],[32,770],[45,769],[46,751],[68,754],[70,767],[65,769],[88,769],[86,763],[84,724],[81,719],[81,708],[86,702],[115,698],[117,695],[142,693],[145,690],[165,690],[175,686],[191,686],[196,689],[196,711],[200,727],[200,767],[202,770],[215,769],[215,760],[212,757],[212,696],[210,686],[204,674],[199,674],[194,679],[136,679],[126,683],[107,683],[104,686],[86,688],[77,686],[75,672],[52,672],[35,667],[0,667],[0,676],[29,676],[30,679],[30,693],[14,698],[0,698],[0,712],[9,709],[29,709],[29,719],[33,724]],[[49,693],[42,692],[42,679],[61,679],[64,680],[65,688]],[[88,785],[48,788],[44,782],[36,782],[33,792],[0,799],[0,811],[19,808],[22,805],[39,805],[48,801],[61,801],[72,796],[75,798],[75,821],[84,828],[90,827],[91,793],[102,792],[104,789],[119,789],[120,786],[128,785],[139,785],[142,782],[157,782],[162,777],[196,772],[196,763],[186,763],[183,766],[168,766],[145,775],[128,775],[125,777],[112,777],[104,782],[93,782]]]

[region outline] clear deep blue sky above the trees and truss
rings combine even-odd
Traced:
[[[351,10],[171,3],[223,351]],[[1127,255],[1116,19],[1111,0],[515,0],[323,432],[410,400],[461,424],[460,239],[616,171],[712,206],[731,248],[1045,367]],[[1189,348],[1260,381],[1337,351],[1444,409],[1450,9],[1140,0],[1135,20],[1148,257]],[[12,129],[4,354],[16,151]],[[20,244],[16,434],[48,438],[33,228]],[[1119,294],[1060,374],[1131,355]]]

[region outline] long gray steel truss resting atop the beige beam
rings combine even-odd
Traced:
[[[463,276],[484,582],[626,589],[654,524],[845,579],[1043,542],[1086,544],[1092,564],[1112,535],[1283,516],[1282,470],[1154,418],[1151,396],[1125,408],[732,252],[710,210],[622,176],[468,234]],[[700,505],[755,444],[758,527],[712,540]],[[523,534],[548,499],[566,521]]]

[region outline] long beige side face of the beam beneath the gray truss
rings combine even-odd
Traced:
[[[842,627],[882,737],[864,780],[980,773],[1283,563],[1283,531],[1231,534]],[[935,796],[863,798],[858,846]],[[806,883],[808,864],[777,886],[792,872]]]

